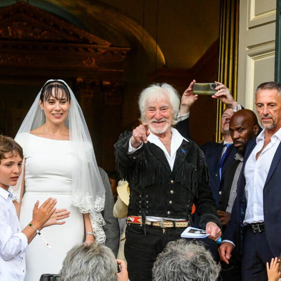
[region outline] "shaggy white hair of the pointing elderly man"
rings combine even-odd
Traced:
[[[180,107],[180,95],[171,85],[167,83],[152,84],[149,87],[142,90],[139,97],[139,109],[141,111],[141,122],[145,123],[145,110],[146,105],[151,101],[159,100],[163,97],[167,97],[170,100],[172,106],[173,120],[172,125],[177,123],[177,115]]]

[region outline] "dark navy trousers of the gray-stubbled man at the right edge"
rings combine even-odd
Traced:
[[[243,246],[242,280],[267,281],[266,262],[270,264],[272,258],[274,256],[266,240],[266,230],[254,234],[247,229]]]

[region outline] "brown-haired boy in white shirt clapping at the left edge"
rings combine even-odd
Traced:
[[[22,161],[20,145],[12,138],[0,136],[0,281],[23,281],[28,244],[37,233],[40,234],[43,227],[63,224],[64,222],[58,223],[57,220],[69,217],[66,210],[57,210],[61,214],[60,217],[57,216],[54,208],[56,199],[47,199],[40,208],[37,201],[30,224],[21,231],[12,202],[13,195],[8,189],[16,185],[22,170]]]

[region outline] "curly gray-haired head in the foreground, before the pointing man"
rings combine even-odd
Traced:
[[[216,281],[220,265],[201,242],[169,242],[154,263],[153,281]]]

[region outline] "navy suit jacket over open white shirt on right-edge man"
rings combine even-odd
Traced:
[[[244,164],[237,182],[237,197],[228,222],[224,239],[234,242],[242,253],[245,226],[245,164],[256,146],[256,139],[249,141],[244,157]],[[265,234],[269,248],[274,256],[281,253],[281,143],[273,157],[263,189]],[[238,248],[238,249],[239,249]]]

